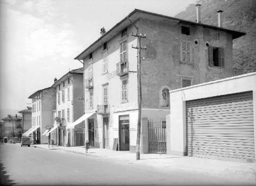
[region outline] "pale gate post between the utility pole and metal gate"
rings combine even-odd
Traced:
[[[148,153],[148,117],[141,118],[140,153]]]

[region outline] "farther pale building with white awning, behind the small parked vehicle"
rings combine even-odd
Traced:
[[[53,87],[48,87],[36,91],[28,98],[32,99],[32,126],[23,135],[32,134],[32,140],[47,143],[47,137],[42,134],[52,126],[52,110],[56,106],[56,90]]]

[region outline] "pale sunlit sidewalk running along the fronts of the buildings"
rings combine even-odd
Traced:
[[[128,151],[113,151],[110,149],[99,149],[90,146],[90,149],[86,154],[84,146],[54,146],[53,148],[48,148],[47,144],[33,146],[47,150],[58,150],[62,152],[95,156],[109,160],[137,164],[139,166],[151,166],[157,169],[166,169],[166,171],[180,170],[206,175],[216,175],[219,177],[230,177],[232,179],[244,180],[248,184],[256,185],[256,163],[239,163],[166,154],[140,154],[140,160],[136,160],[136,154]]]

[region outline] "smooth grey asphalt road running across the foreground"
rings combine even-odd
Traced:
[[[17,144],[0,146],[0,176],[1,185],[242,185],[214,176]]]

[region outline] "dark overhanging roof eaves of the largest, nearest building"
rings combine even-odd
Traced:
[[[83,60],[84,57],[89,55],[91,52],[95,51],[97,48],[102,46],[105,42],[113,38],[116,34],[120,33],[123,29],[131,25],[131,21],[128,20],[128,18],[134,23],[138,19],[147,19],[147,20],[156,20],[156,21],[161,21],[165,23],[171,23],[171,24],[177,24],[177,23],[183,23],[183,24],[188,24],[192,26],[203,26],[204,28],[209,28],[209,29],[215,29],[215,30],[220,30],[220,31],[226,31],[228,33],[232,34],[232,38],[236,39],[238,37],[241,37],[245,35],[246,33],[240,32],[240,31],[233,31],[230,29],[224,29],[222,27],[217,27],[217,26],[211,26],[207,24],[202,24],[202,23],[196,23],[188,20],[182,20],[178,19],[175,17],[169,17],[166,15],[162,14],[156,14],[152,13],[149,11],[144,11],[140,9],[134,9],[128,16],[123,18],[119,23],[117,23],[115,26],[113,26],[109,31],[107,31],[104,35],[99,37],[94,43],[92,43],[89,47],[87,47],[81,54],[76,56],[74,59],[75,60]]]

